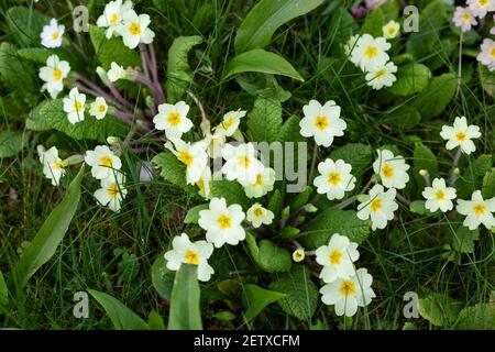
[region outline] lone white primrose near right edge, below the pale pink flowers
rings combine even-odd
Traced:
[[[472,139],[481,138],[480,128],[477,125],[468,125],[465,117],[455,118],[453,127],[443,125],[440,136],[448,141],[446,147],[450,151],[457,146],[465,154],[471,154],[476,150]]]

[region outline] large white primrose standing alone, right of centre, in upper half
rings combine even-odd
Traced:
[[[342,136],[348,128],[340,119],[340,107],[333,100],[321,106],[317,100],[310,100],[302,107],[305,117],[299,121],[300,134],[305,138],[314,136],[318,145],[330,146],[334,136]]]

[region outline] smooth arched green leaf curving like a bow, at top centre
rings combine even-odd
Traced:
[[[304,81],[304,78],[284,57],[261,48],[239,54],[227,63],[222,80],[242,73],[280,75]]]

